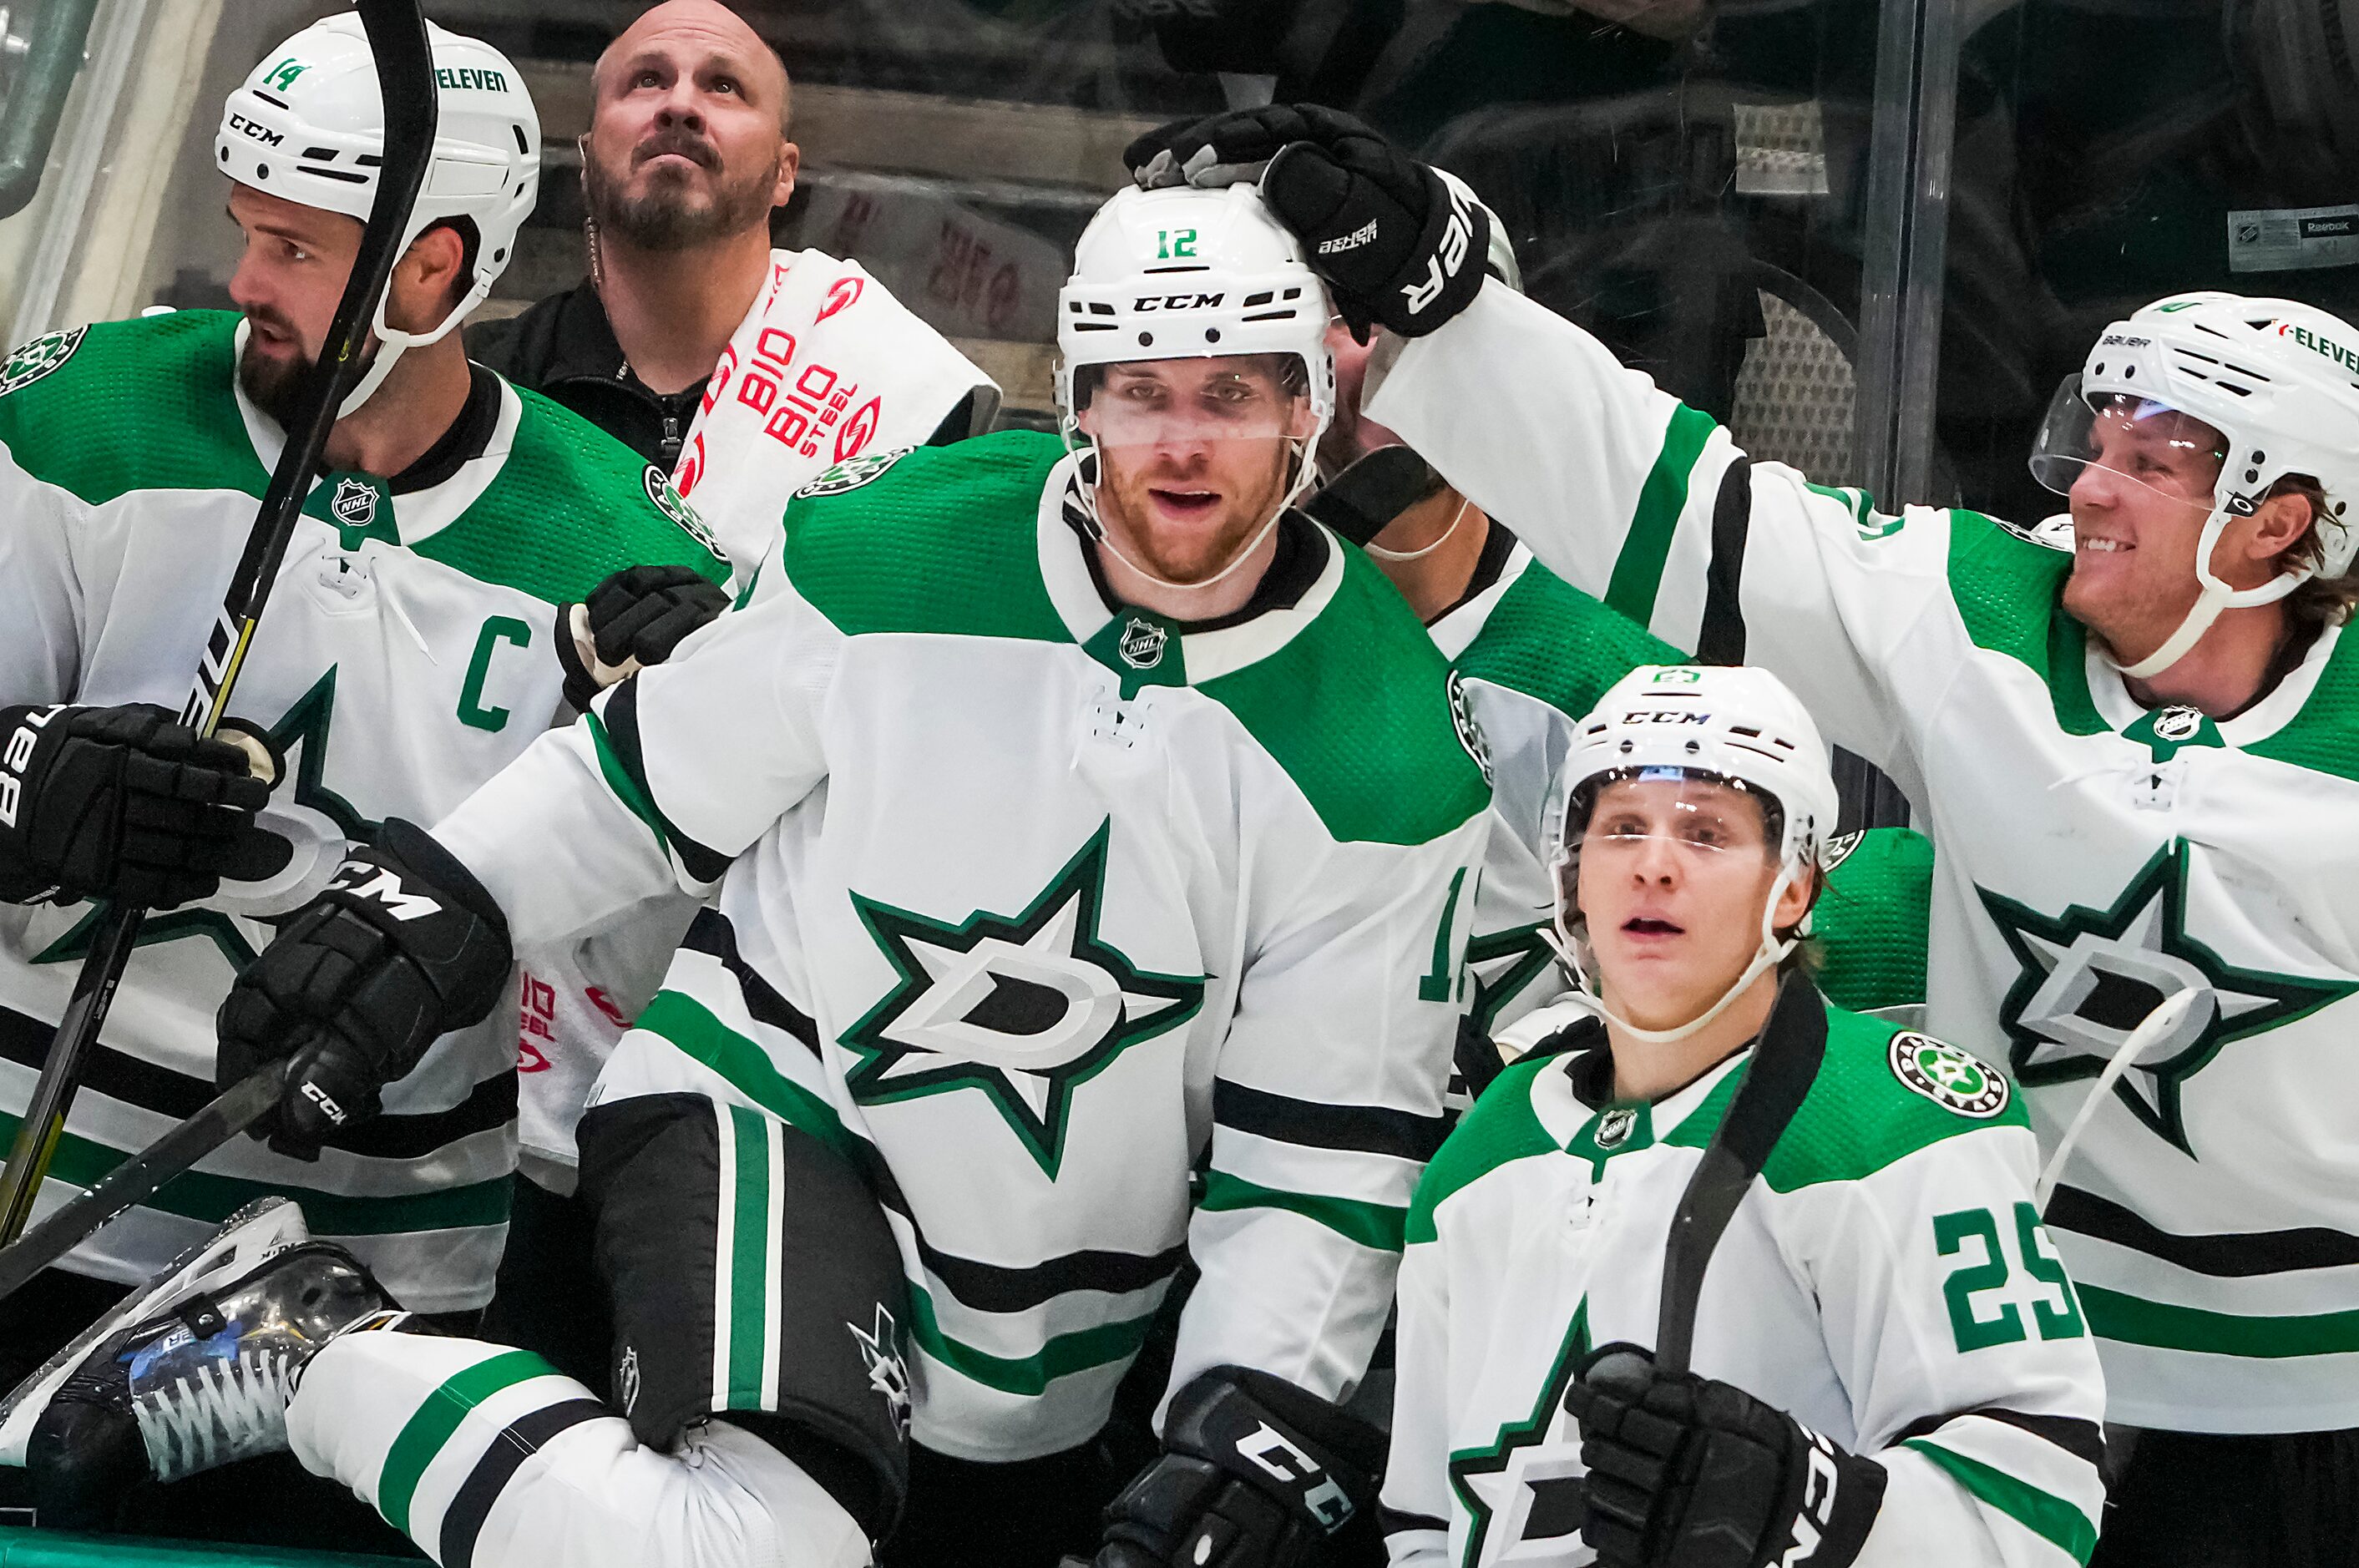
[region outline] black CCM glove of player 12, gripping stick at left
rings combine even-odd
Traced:
[[[293,1059],[271,1148],[311,1155],[377,1113],[434,1040],[481,1023],[514,962],[484,884],[392,818],[262,950],[222,1002],[215,1080]]]

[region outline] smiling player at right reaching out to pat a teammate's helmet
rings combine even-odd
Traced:
[[[1250,125],[1248,125],[1250,130]],[[2144,1436],[2102,1561],[2309,1561],[2359,1535],[2359,332],[2182,295],[2107,328],[2036,472],[2071,552],[1963,509],[1880,512],[1750,462],[1590,335],[1470,276],[1481,222],[1415,207],[1364,134],[1250,165],[1347,311],[1397,337],[1366,413],[1663,639],[1741,641],[1882,766],[1939,846],[1927,1023],[2005,1061],[2052,1146],[2125,1063],[2045,1212]],[[1349,219],[1349,229],[1330,229]]]

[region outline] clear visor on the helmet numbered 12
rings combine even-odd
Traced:
[[[1106,450],[1187,453],[1316,434],[1307,368],[1293,354],[1135,358],[1085,375],[1076,422]]]

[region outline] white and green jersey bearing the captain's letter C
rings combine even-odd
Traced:
[[[215,311],[35,340],[0,370],[0,700],[177,710],[283,436],[236,389],[241,323]],[[387,490],[328,474],[304,502],[231,717],[288,771],[264,821],[295,842],[267,884],[149,915],[66,1122],[42,1210],[215,1094],[212,1014],[344,846],[432,823],[561,707],[557,604],[611,571],[722,561],[663,474],[505,382],[448,474]],[[14,1137],[73,988],[90,905],[0,908],[0,1134]],[[368,1261],[410,1309],[481,1306],[517,1165],[517,1012],[443,1037],[385,1115],[318,1162],[236,1139],[68,1266],[134,1283],[264,1193]]]

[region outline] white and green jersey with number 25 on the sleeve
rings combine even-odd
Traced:
[[[1691,1365],[1882,1464],[1859,1568],[2085,1563],[2104,1389],[2031,1207],[2022,1108],[1956,1047],[1826,1019],[1809,1096],[1703,1276]],[[1578,1040],[1491,1085],[1408,1212],[1394,1568],[1595,1556],[1564,1391],[1590,1349],[1654,1344],[1673,1212],[1753,1052],[1606,1103],[1604,1026]]]

